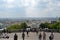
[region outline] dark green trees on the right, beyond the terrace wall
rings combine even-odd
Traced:
[[[41,23],[40,28],[44,29],[44,28],[49,28],[49,29],[60,29],[60,22],[56,22],[56,23]]]

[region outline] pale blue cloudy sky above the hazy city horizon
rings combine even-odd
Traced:
[[[60,17],[60,0],[0,0],[0,18]]]

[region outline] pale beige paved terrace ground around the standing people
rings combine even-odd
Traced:
[[[22,33],[17,33],[18,35],[18,40],[22,40],[22,37],[21,37],[21,34]],[[14,33],[11,33],[11,34],[8,34],[9,35],[9,39],[3,39],[3,38],[0,38],[0,40],[14,40],[13,37],[14,37]],[[47,33],[46,32],[46,40],[49,40],[49,35],[50,33]],[[25,40],[39,40],[38,39],[38,35],[34,32],[30,32],[29,33],[29,37],[27,37],[26,35],[26,32],[25,32]],[[54,33],[54,40],[60,40],[60,33]]]

